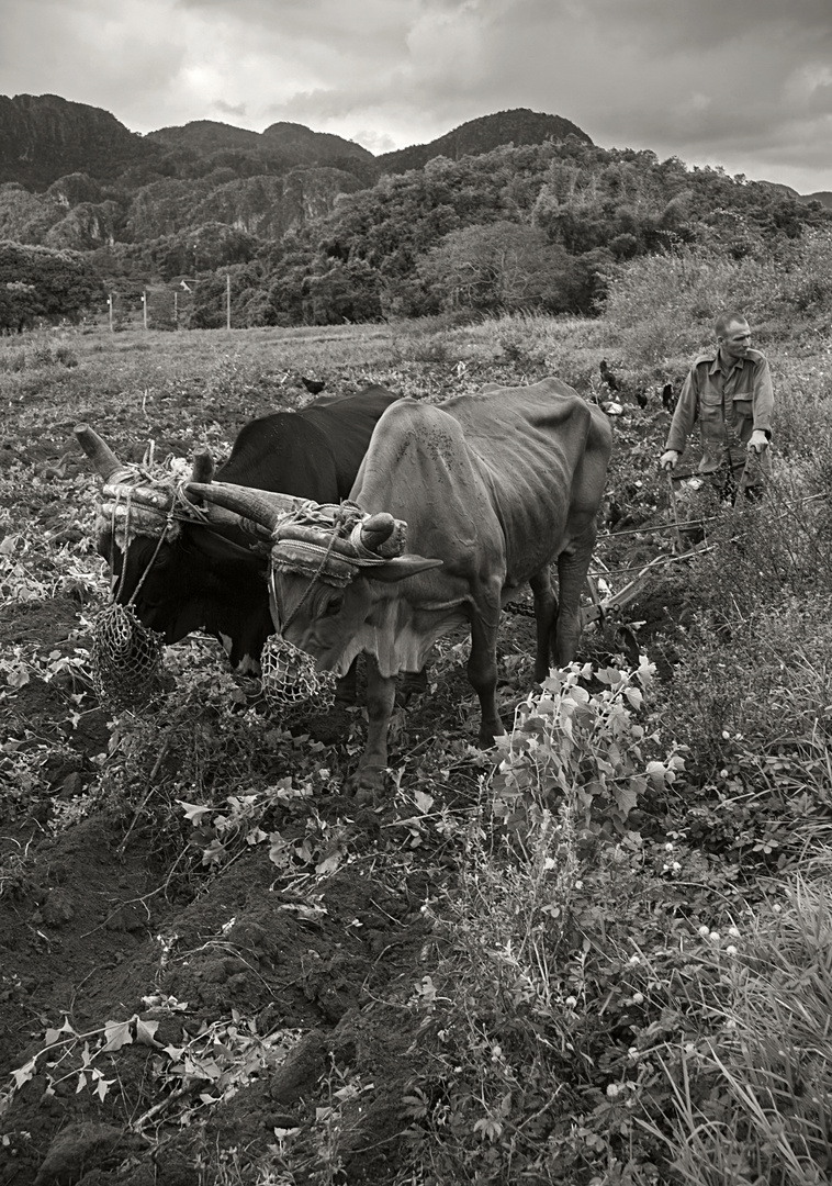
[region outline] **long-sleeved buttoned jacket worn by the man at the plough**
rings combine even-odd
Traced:
[[[700,473],[713,473],[730,463],[742,471],[745,446],[755,429],[772,439],[774,390],[768,361],[759,350],[749,350],[728,376],[719,366],[718,347],[699,355],[685,380],[673,413],[666,448],[684,453],[696,421],[702,433]],[[763,454],[768,461],[768,449]],[[768,466],[766,466],[768,467]]]

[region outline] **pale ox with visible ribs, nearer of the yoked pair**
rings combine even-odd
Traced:
[[[536,680],[545,678],[551,658],[572,659],[610,451],[603,413],[548,378],[440,406],[392,404],[350,504],[319,508],[313,527],[267,493],[190,489],[273,531],[271,610],[288,642],[322,670],[344,672],[367,655],[367,742],[356,780],[373,791],[388,765],[395,677],[420,670],[450,627],[471,629],[468,678],[484,747],[505,732],[495,699],[500,608],[526,584],[535,595]],[[328,534],[320,528],[327,516]],[[405,524],[407,550],[395,555],[391,541]]]

